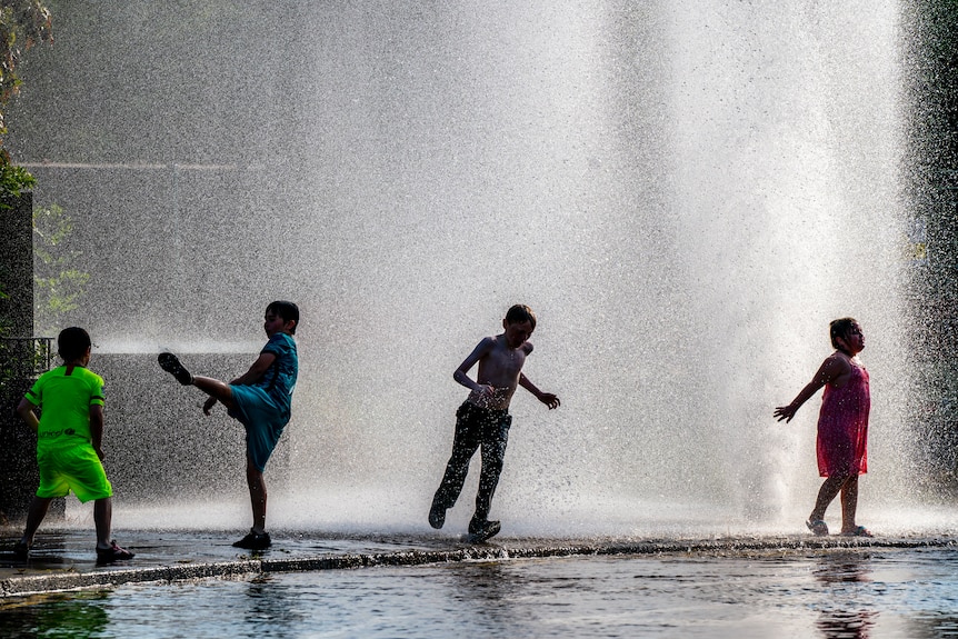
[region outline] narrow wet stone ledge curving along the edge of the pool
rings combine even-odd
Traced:
[[[637,542],[579,543],[503,543],[451,548],[447,550],[400,550],[319,555],[288,559],[251,559],[212,563],[116,568],[94,572],[58,572],[9,577],[0,580],[0,598],[23,597],[43,592],[112,588],[124,583],[173,582],[198,579],[349,570],[376,566],[422,566],[466,561],[502,561],[509,559],[616,556],[616,555],[729,555],[750,552],[820,552],[861,549],[949,548],[954,539],[860,539],[842,537],[797,537],[779,539],[661,540]]]

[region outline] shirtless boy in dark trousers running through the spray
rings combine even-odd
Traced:
[[[522,387],[549,407],[559,407],[559,398],[542,392],[522,375],[522,365],[532,352],[529,337],[536,329],[536,314],[527,306],[516,304],[502,320],[505,331],[496,337],[483,338],[469,353],[452,378],[470,390],[469,397],[456,412],[456,435],[452,456],[446,466],[446,475],[429,510],[429,525],[442,528],[446,511],[456,505],[462,483],[469,471],[469,461],[481,446],[482,470],[479,475],[479,491],[476,495],[476,513],[469,522],[469,535],[476,541],[486,540],[499,532],[498,521],[489,521],[492,493],[502,472],[506,442],[512,416],[509,402],[518,387]],[[469,370],[479,363],[473,381]]]

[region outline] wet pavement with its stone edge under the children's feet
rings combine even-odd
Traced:
[[[486,543],[471,545],[459,537],[441,533],[336,536],[276,532],[270,549],[248,551],[233,548],[236,539],[219,530],[150,530],[118,532],[118,542],[136,552],[136,557],[98,566],[90,530],[48,529],[38,535],[28,561],[17,560],[12,553],[18,536],[19,531],[12,528],[0,529],[0,598],[121,583],[370,566],[615,555],[807,555],[848,548],[958,546],[958,540],[950,536],[866,539],[796,535],[658,540],[497,537]]]

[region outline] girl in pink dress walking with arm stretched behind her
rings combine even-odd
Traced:
[[[851,318],[831,322],[831,353],[818,372],[788,406],[775,409],[775,417],[788,423],[819,388],[825,387],[818,416],[818,473],[825,482],[806,526],[815,535],[828,535],[825,511],[841,493],[841,535],[871,537],[855,523],[858,507],[858,476],[868,470],[868,411],[871,396],[868,371],[856,357],[865,348],[861,327]]]

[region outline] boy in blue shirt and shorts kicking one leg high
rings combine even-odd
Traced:
[[[289,422],[290,402],[299,371],[296,335],[299,308],[289,301],[275,301],[266,309],[263,330],[269,341],[247,372],[229,383],[209,377],[193,377],[171,352],[160,353],[160,367],[183,386],[194,386],[207,399],[203,412],[222,403],[233,419],[246,428],[247,486],[252,505],[252,528],[233,543],[237,548],[261,550],[271,540],[266,531],[266,481],[263,470],[282,430]]]

